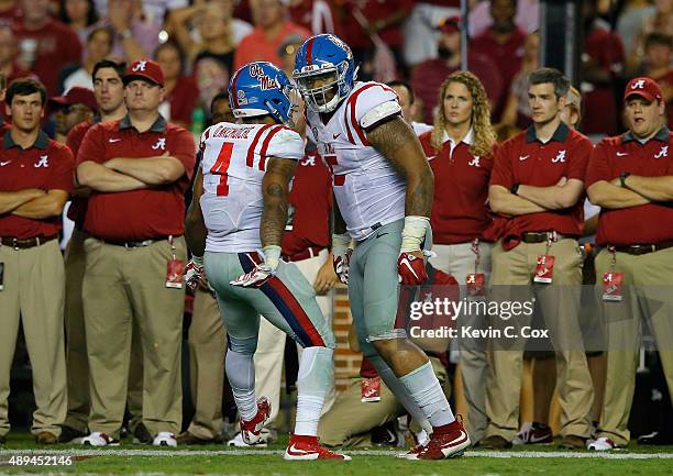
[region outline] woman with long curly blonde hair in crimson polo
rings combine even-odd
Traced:
[[[488,180],[496,135],[484,86],[470,71],[450,75],[440,88],[433,129],[420,136],[434,173],[430,218],[433,234],[431,263],[452,274],[466,294],[479,295],[490,275],[492,224]],[[484,317],[459,316],[461,325],[478,329]],[[486,429],[486,355],[483,342],[462,340],[461,375],[468,406],[467,431],[473,442]]]

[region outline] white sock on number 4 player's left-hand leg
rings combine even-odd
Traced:
[[[229,348],[224,367],[239,413],[243,420],[250,421],[257,414],[253,356]]]

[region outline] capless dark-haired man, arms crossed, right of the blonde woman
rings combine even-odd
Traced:
[[[537,296],[556,350],[556,388],[562,446],[584,447],[591,434],[592,378],[581,345],[578,322],[582,255],[577,237],[584,225],[584,175],[593,145],[561,122],[570,80],[541,68],[529,77],[533,124],[498,148],[490,177],[490,208],[505,222],[493,250],[494,297],[508,300],[517,288],[526,300]],[[553,258],[552,258],[553,256]],[[551,272],[540,272],[553,266]],[[534,278],[533,278],[534,276]],[[543,281],[540,281],[543,279]],[[534,283],[534,287],[531,286]],[[528,325],[532,316],[520,316]],[[511,322],[494,318],[494,325]],[[522,339],[522,337],[521,337]],[[507,350],[488,354],[484,447],[508,447],[519,423],[522,342],[497,342]],[[571,348],[571,344],[578,348]]]

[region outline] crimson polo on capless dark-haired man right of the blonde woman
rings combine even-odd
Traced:
[[[584,181],[594,145],[575,130],[561,123],[551,140],[542,144],[531,125],[505,142],[496,152],[490,185],[509,190],[515,184],[552,187],[565,177]],[[580,236],[584,226],[584,200],[563,210],[548,210],[511,217],[503,223],[498,237],[523,232],[556,231]]]

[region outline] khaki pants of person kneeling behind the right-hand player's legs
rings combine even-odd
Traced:
[[[442,389],[450,396],[449,376],[439,358],[430,357],[434,375]],[[406,413],[405,407],[380,381],[380,401],[361,400],[361,378],[354,378],[344,391],[340,392],[334,405],[322,416],[318,425],[320,443],[327,446],[372,446],[372,430],[386,424]]]

